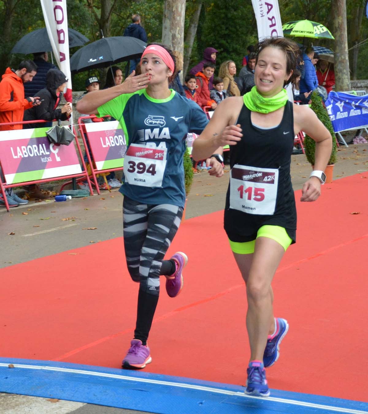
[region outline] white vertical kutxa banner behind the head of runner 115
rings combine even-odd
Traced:
[[[258,40],[265,37],[283,36],[278,0],[252,0],[257,20]],[[286,87],[289,101],[294,101],[291,83]]]

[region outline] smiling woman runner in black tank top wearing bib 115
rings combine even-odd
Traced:
[[[255,87],[216,108],[194,141],[192,156],[203,159],[230,145],[230,184],[225,231],[247,286],[250,345],[247,394],[270,394],[265,366],[278,359],[288,323],[274,318],[271,282],[286,248],[295,242],[296,211],[290,178],[294,136],[304,131],[316,142],[315,171],[303,185],[301,201],[320,195],[332,137],[307,106],[288,102],[283,87],[294,77],[298,45],[271,38],[257,45]]]

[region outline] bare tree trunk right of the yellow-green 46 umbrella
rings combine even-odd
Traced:
[[[350,91],[348,36],[346,28],[346,0],[335,0],[332,7],[335,38],[336,91]]]

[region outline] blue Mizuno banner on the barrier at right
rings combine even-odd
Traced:
[[[335,132],[368,125],[368,95],[331,91],[325,105]]]

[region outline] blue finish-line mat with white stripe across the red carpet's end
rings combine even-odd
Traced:
[[[10,365],[12,364],[12,365]],[[0,392],[160,414],[368,414],[368,403],[73,363],[0,358]]]

